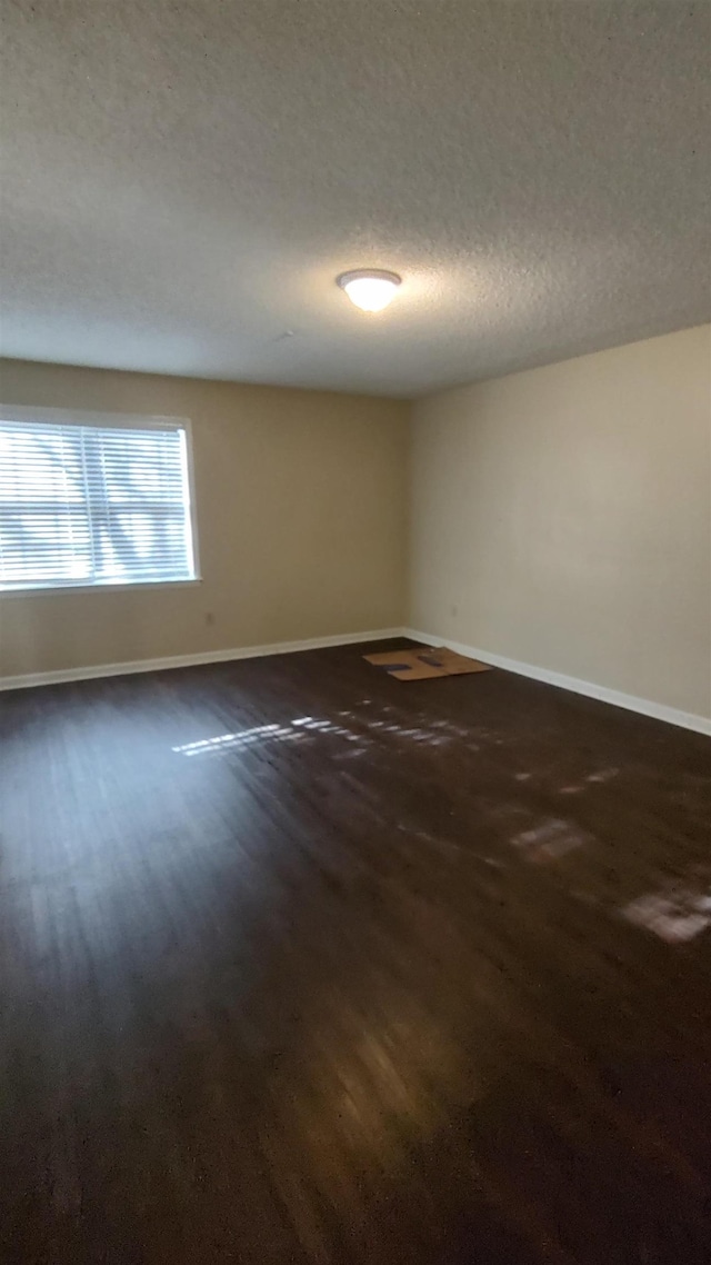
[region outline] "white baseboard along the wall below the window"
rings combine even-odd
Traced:
[[[364,632],[339,632],[335,636],[314,636],[305,641],[275,641],[272,645],[245,645],[237,650],[205,650],[201,654],[173,654],[166,659],[137,659],[133,663],[99,663],[87,668],[63,668],[57,672],[32,672],[23,677],[0,677],[0,689],[28,689],[32,686],[56,686],[67,681],[92,681],[96,677],[125,677],[135,672],[162,672],[167,668],[192,668],[201,663],[229,663],[232,659],[257,659],[267,654],[294,654],[296,650],[323,650],[330,645],[354,645],[358,641],[383,641],[402,636],[402,629],[377,629]]]

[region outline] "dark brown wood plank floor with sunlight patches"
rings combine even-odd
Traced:
[[[0,696],[5,1262],[711,1259],[711,744],[363,649]]]

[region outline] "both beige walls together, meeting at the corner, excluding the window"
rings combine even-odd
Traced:
[[[192,419],[202,582],[0,595],[0,676],[409,622],[711,715],[710,328],[414,409],[6,361],[8,404]],[[209,616],[213,622],[209,624]]]

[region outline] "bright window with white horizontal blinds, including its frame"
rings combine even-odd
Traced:
[[[0,591],[196,578],[189,426],[0,411]]]

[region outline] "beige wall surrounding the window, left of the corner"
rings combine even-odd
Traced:
[[[0,676],[404,622],[407,405],[19,361],[0,400],[191,417],[202,571],[194,587],[0,595]]]

